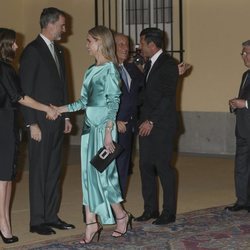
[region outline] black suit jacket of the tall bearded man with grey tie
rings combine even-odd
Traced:
[[[55,52],[61,76],[47,44],[40,35],[28,44],[20,61],[21,86],[25,94],[39,102],[63,105],[67,103],[67,85],[62,47],[55,44]],[[26,124],[51,124],[51,121],[46,120],[44,112],[23,108],[23,113]]]

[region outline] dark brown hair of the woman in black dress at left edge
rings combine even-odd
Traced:
[[[0,58],[5,61],[12,61],[15,51],[12,46],[16,41],[16,32],[7,28],[0,28]]]

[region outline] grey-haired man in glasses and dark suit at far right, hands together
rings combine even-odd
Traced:
[[[236,114],[235,190],[237,201],[225,209],[250,212],[250,40],[242,44],[242,59],[248,68],[242,76],[238,98],[229,100]]]

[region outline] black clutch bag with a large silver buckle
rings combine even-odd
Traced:
[[[113,143],[115,145],[115,151],[113,153],[109,153],[105,147],[102,147],[98,150],[97,154],[90,161],[93,167],[95,167],[101,173],[124,150],[123,147],[118,143],[116,142]]]

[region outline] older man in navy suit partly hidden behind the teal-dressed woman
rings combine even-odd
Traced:
[[[117,114],[118,142],[124,148],[117,158],[117,169],[123,198],[126,198],[134,132],[137,125],[138,93],[143,86],[143,73],[133,62],[128,62],[129,38],[115,34],[116,55],[122,79],[122,95]]]

